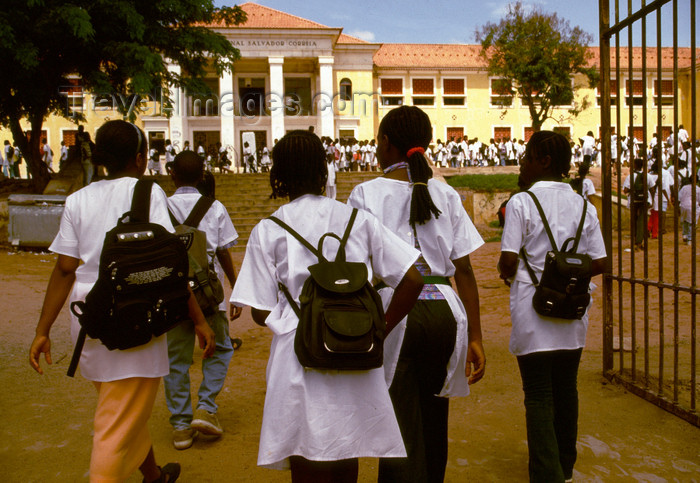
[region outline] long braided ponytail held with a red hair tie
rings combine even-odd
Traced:
[[[410,225],[413,228],[416,223],[422,225],[430,221],[432,215],[437,219],[441,211],[433,203],[428,191],[428,180],[433,177],[433,171],[421,152],[428,147],[433,137],[428,115],[415,106],[392,109],[379,124],[379,133],[385,135],[389,142],[408,158],[408,169],[413,181],[411,213],[408,219]]]

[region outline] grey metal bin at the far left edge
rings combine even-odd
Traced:
[[[14,246],[46,248],[58,233],[63,195],[10,195],[7,239]]]

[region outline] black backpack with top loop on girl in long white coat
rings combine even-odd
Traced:
[[[284,293],[299,317],[294,351],[302,366],[314,369],[367,370],[381,367],[386,321],[382,300],[367,281],[367,266],[345,261],[345,244],[355,222],[353,209],[343,238],[326,233],[314,248],[282,220],[269,217],[318,257],[299,296],[300,305],[287,287]],[[323,256],[326,237],[340,241],[334,261]]]

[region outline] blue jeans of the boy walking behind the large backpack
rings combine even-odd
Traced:
[[[216,413],[214,402],[224,387],[228,364],[233,357],[233,346],[228,333],[225,312],[207,317],[216,336],[216,350],[209,359],[202,360],[202,383],[199,385],[197,408]],[[170,411],[170,424],[175,429],[186,429],[192,422],[192,396],[190,395],[190,366],[196,339],[194,324],[187,320],[168,332],[168,358],[170,374],[163,378],[165,402]]]

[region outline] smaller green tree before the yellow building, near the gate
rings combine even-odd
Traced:
[[[526,10],[518,2],[499,23],[478,29],[476,39],[489,74],[504,80],[501,90],[506,95],[518,94],[529,108],[534,130],[539,131],[558,106],[566,106],[571,116],[588,107],[586,98],[576,98],[583,85],[574,76],[583,75],[590,87],[598,82],[597,69],[589,66],[592,36],[570,27],[556,13]]]

